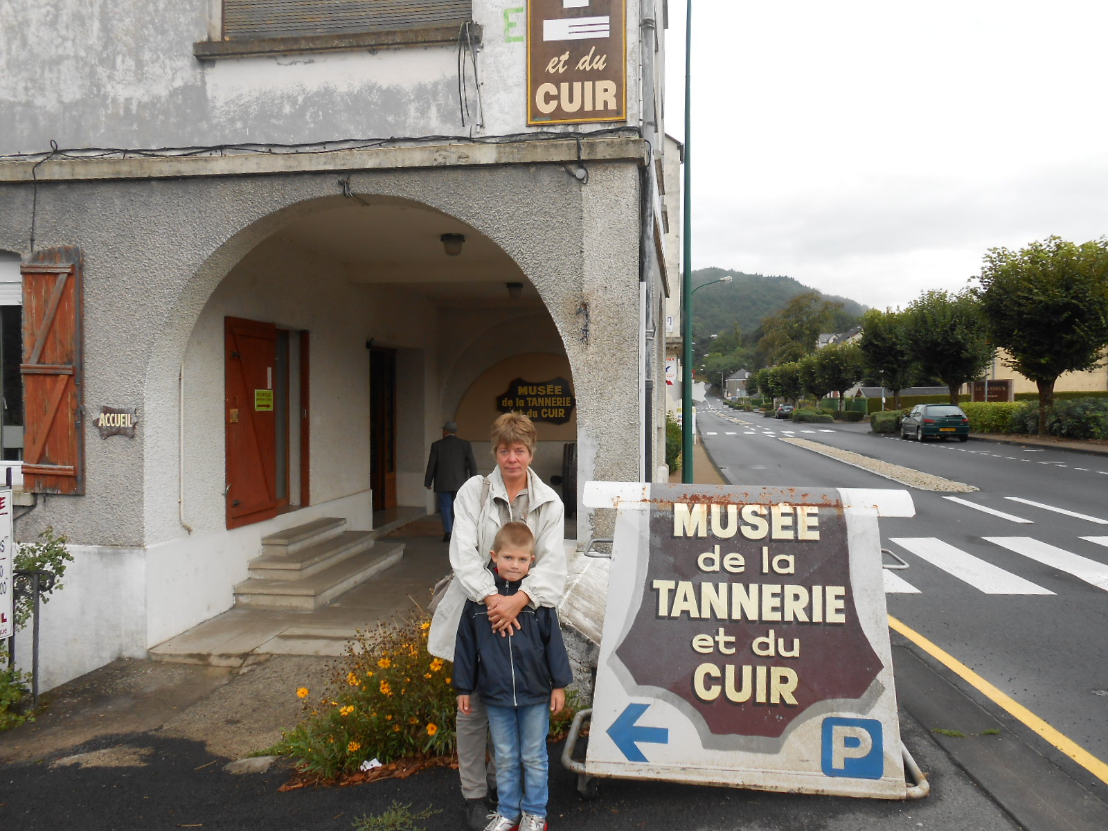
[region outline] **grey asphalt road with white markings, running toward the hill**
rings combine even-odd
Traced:
[[[792,435],[979,489],[909,488],[916,515],[881,521],[882,545],[910,564],[885,572],[889,612],[1108,760],[1108,455],[921,444],[864,423],[794,424],[711,400],[698,408],[698,429],[732,484],[904,488],[779,440]],[[1092,780],[1046,742],[1036,749]],[[1102,782],[1088,787],[1108,799]]]

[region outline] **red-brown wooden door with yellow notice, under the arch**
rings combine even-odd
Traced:
[[[277,514],[277,327],[226,318],[227,527]]]

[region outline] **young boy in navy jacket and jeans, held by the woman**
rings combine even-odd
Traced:
[[[534,561],[535,537],[522,522],[501,526],[492,544],[496,589],[513,595]],[[499,803],[485,831],[545,831],[548,797],[546,733],[573,680],[557,613],[524,606],[519,630],[505,637],[489,623],[484,603],[466,601],[454,647],[458,709],[469,715],[476,690],[489,709]]]

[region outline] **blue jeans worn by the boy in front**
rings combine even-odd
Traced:
[[[485,706],[496,755],[496,810],[510,820],[519,819],[521,813],[545,817],[550,798],[546,760],[550,704]]]

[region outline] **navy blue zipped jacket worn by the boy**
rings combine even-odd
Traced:
[[[515,594],[522,582],[509,583],[495,571],[493,576],[503,595]],[[547,704],[551,690],[570,686],[573,671],[557,613],[550,606],[524,606],[516,620],[520,629],[501,637],[492,630],[485,605],[465,602],[454,646],[453,685],[459,695],[476,690],[482,701],[495,707],[529,707]]]

